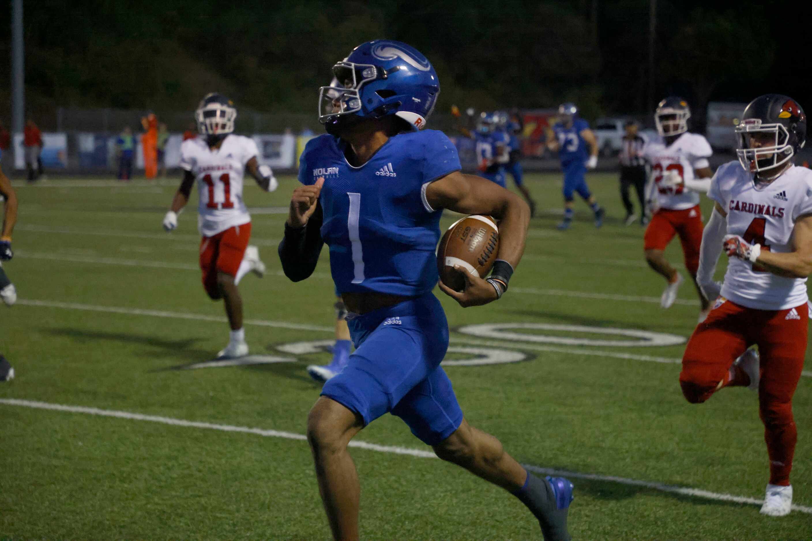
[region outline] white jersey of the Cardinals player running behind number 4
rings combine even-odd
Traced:
[[[657,190],[657,201],[661,208],[685,210],[699,204],[699,194],[685,187],[662,186],[663,173],[676,171],[684,180],[693,180],[694,171],[707,167],[708,158],[713,154],[711,145],[704,136],[686,132],[672,144],[659,141],[646,145],[643,155],[651,164],[651,174]]]

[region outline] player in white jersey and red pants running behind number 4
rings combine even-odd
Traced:
[[[702,304],[701,321],[707,315],[708,301],[696,285],[702,243],[699,193],[707,192],[710,186],[713,172],[708,158],[713,151],[705,137],[688,131],[690,116],[688,103],[680,97],[667,97],[654,111],[654,122],[663,142],[653,141],[643,150],[651,165],[648,200],[657,208],[646,227],[643,250],[646,262],[667,282],[660,306],[671,307],[683,278],[665,259],[663,251],[674,235],[680,236],[685,268]]]

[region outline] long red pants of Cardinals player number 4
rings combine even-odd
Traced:
[[[694,329],[682,357],[680,386],[695,404],[731,384],[733,362],[749,346],[758,346],[758,414],[770,457],[770,483],[775,485],[788,485],[793,469],[797,442],[793,394],[804,366],[808,320],[806,303],[769,311],[725,301]]]

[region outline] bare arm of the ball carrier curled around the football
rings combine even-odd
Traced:
[[[508,289],[508,281],[525,252],[530,208],[512,191],[482,177],[455,171],[425,187],[425,200],[431,208],[447,208],[462,214],[485,214],[499,220],[499,255],[491,278]],[[507,275],[507,276],[506,276]],[[501,294],[496,285],[463,273],[465,289],[451,290],[443,282],[440,289],[456,299],[460,306],[478,306],[495,301]]]

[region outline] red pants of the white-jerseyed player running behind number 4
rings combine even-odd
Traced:
[[[646,250],[665,250],[674,235],[680,235],[685,268],[696,276],[699,247],[702,245],[702,227],[702,210],[699,205],[685,210],[660,208],[646,227],[643,247]]]

